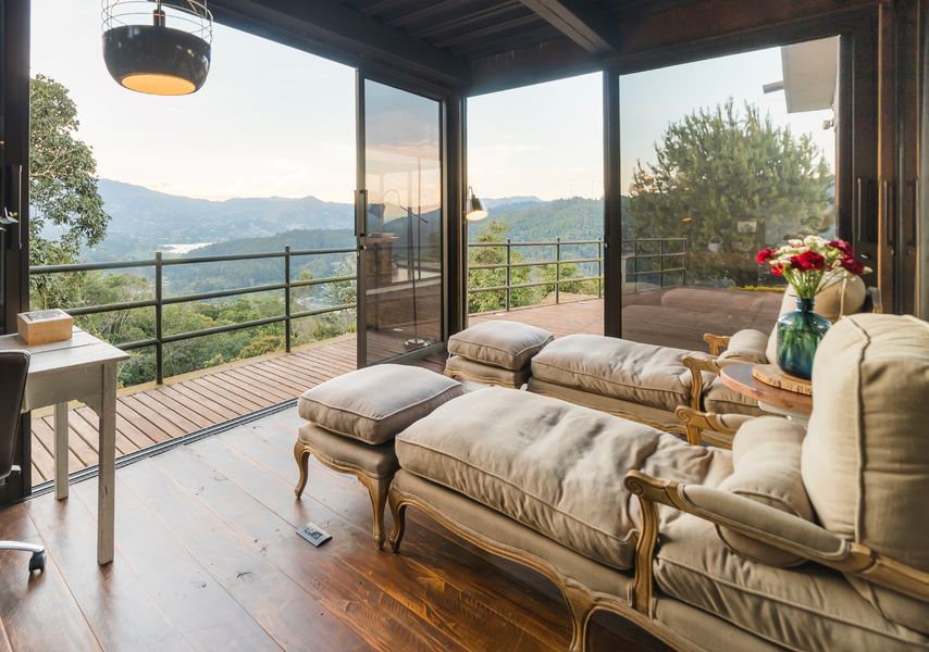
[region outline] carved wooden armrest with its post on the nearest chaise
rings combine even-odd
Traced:
[[[631,602],[647,613],[654,586],[652,562],[658,542],[658,504],[693,514],[715,525],[780,548],[810,562],[855,575],[917,600],[929,601],[929,573],[891,560],[863,543],[748,498],[701,485],[625,474],[625,488],[642,505],[642,532],[636,544]]]

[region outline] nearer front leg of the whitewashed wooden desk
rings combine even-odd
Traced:
[[[113,521],[116,480],[116,365],[103,366],[100,401],[100,473],[97,477],[97,563],[113,561]]]

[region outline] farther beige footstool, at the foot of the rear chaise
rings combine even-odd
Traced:
[[[553,339],[529,324],[482,322],[448,338],[445,375],[519,389],[529,380],[533,355]]]

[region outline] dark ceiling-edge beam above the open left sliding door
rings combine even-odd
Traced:
[[[468,64],[336,0],[213,0],[220,23],[352,66],[372,64],[447,87],[467,86]]]

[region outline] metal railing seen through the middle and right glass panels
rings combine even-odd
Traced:
[[[680,247],[680,251],[672,251],[669,247],[670,243],[677,242]],[[648,252],[645,251],[648,247],[655,247],[657,243],[658,252]],[[570,246],[592,246],[596,244],[596,256],[594,258],[563,258],[562,249],[565,247]],[[686,238],[636,238],[631,240],[623,241],[623,249],[625,247],[631,247],[630,253],[623,253],[622,260],[623,265],[628,266],[631,261],[632,269],[623,271],[623,280],[625,278],[630,278],[635,281],[637,278],[646,277],[646,276],[658,276],[659,277],[659,286],[665,287],[665,276],[674,274],[680,275],[680,283],[678,285],[684,285],[686,281],[686,266],[688,266],[688,239]],[[481,288],[468,288],[468,296],[476,294],[480,292],[503,292],[504,293],[504,306],[505,310],[510,310],[512,306],[512,291],[521,288],[534,288],[542,286],[554,286],[555,287],[555,303],[561,302],[561,286],[563,284],[581,284],[581,283],[593,283],[597,284],[597,298],[603,297],[603,265],[604,265],[604,241],[603,240],[562,240],[561,238],[557,238],[555,240],[546,240],[546,241],[537,241],[537,242],[515,242],[511,239],[507,238],[505,241],[500,242],[470,242],[468,244],[470,249],[486,249],[486,248],[497,248],[503,249],[505,251],[505,262],[501,263],[490,263],[490,264],[478,264],[472,265],[469,263],[468,271],[469,273],[475,269],[506,269],[506,280],[503,285],[494,285],[486,286]],[[541,260],[541,261],[521,261],[521,262],[512,262],[512,251],[518,248],[528,248],[528,247],[553,247],[555,249],[555,258],[550,260]],[[676,264],[668,266],[666,263],[669,259],[674,259]],[[657,260],[658,268],[657,269],[641,269],[639,266],[639,260]],[[595,276],[569,276],[562,277],[561,266],[562,265],[579,265],[579,264],[593,264],[596,263],[597,271]],[[512,271],[513,268],[519,267],[547,267],[554,265],[555,266],[555,279],[546,279],[546,280],[534,280],[530,283],[512,283]],[[470,279],[469,279],[470,286]]]

